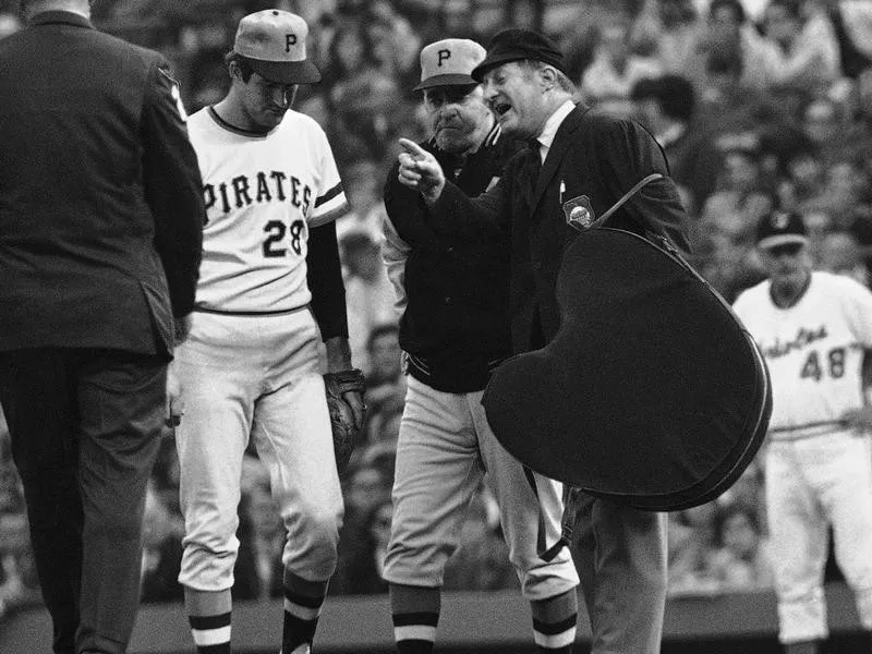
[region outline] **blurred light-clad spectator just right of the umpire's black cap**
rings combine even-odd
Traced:
[[[623,14],[616,13],[601,24],[593,62],[581,76],[581,94],[589,104],[629,100],[640,80],[661,75],[656,61],[630,51],[628,29],[629,19]]]

